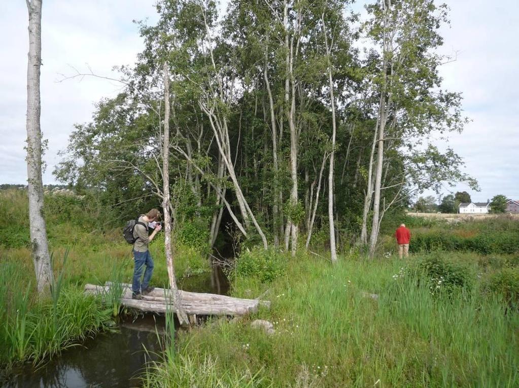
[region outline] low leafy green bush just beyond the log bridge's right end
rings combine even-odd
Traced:
[[[281,253],[273,249],[264,250],[257,247],[240,254],[236,260],[235,274],[255,277],[262,282],[271,282],[285,274],[287,264],[288,260]]]

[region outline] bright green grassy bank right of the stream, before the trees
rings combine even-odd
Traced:
[[[332,267],[300,256],[271,283],[238,276],[234,295],[269,289],[271,309],[180,333],[176,355],[146,384],[517,386],[519,315],[487,288],[500,269],[484,270],[471,257],[343,257]],[[438,260],[453,273],[446,285],[414,271],[419,262]],[[459,270],[466,277],[461,286],[454,281]],[[252,329],[255,318],[273,322],[275,334]]]

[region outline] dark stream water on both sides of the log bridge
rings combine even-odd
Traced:
[[[194,276],[179,284],[189,291],[226,294],[229,283],[220,268],[213,273]],[[64,351],[44,366],[32,365],[13,371],[6,388],[84,388],[139,387],[140,373],[146,363],[155,361],[161,352],[160,342],[166,332],[165,317],[153,314],[123,317],[114,332]],[[145,349],[147,351],[145,351]]]

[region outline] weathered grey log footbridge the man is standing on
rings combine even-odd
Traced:
[[[142,300],[131,298],[131,284],[122,283],[114,285],[106,282],[104,286],[94,284],[85,285],[86,294],[106,295],[114,287],[121,293],[122,306],[144,312],[166,313],[173,311],[172,297],[176,296],[181,308],[188,315],[189,320],[196,322],[197,315],[244,315],[256,312],[258,307],[270,307],[270,302],[259,299],[240,299],[226,295],[193,293],[188,291],[155,288],[148,295],[143,295]]]

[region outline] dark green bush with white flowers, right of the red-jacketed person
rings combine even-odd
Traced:
[[[470,269],[458,262],[449,261],[440,254],[426,256],[416,265],[418,273],[423,273],[430,280],[431,292],[437,290],[452,291],[454,288],[470,287],[472,274]]]

